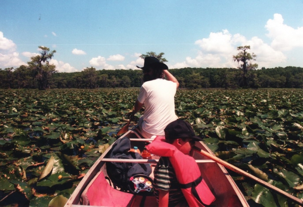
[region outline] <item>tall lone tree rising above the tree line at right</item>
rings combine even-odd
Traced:
[[[233,60],[236,61],[240,66],[238,67],[242,71],[242,80],[240,82],[240,86],[246,88],[247,87],[247,71],[254,70],[258,68],[258,64],[252,64],[252,61],[256,60],[256,55],[254,53],[247,53],[247,49],[250,49],[249,45],[238,46],[237,50],[239,50],[238,55],[233,56]]]

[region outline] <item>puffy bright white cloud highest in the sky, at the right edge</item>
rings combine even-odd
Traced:
[[[274,14],[274,19],[268,20],[265,25],[267,36],[272,39],[272,47],[282,51],[303,47],[303,27],[294,29],[283,22],[282,15]]]

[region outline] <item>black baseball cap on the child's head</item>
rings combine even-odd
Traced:
[[[203,139],[196,136],[191,125],[181,119],[177,119],[169,123],[164,129],[165,139],[174,140],[178,138],[192,138],[194,141],[202,141]]]

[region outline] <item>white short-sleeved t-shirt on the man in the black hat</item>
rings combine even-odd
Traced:
[[[142,135],[164,136],[165,127],[178,119],[175,114],[176,83],[162,78],[146,81],[140,88],[138,101],[144,104]]]

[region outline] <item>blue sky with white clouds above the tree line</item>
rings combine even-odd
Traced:
[[[237,67],[250,45],[262,67],[303,67],[302,0],[0,0],[0,68],[55,49],[59,72],[137,69],[147,51],[169,68]]]

